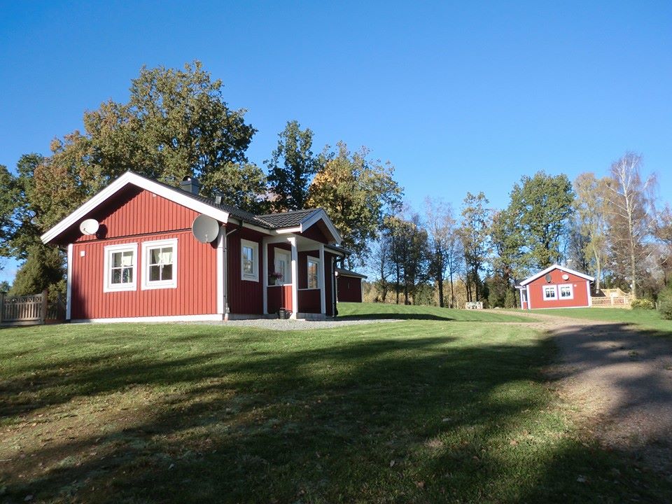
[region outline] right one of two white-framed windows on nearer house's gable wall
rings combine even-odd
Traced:
[[[177,287],[177,238],[142,244],[142,289]]]

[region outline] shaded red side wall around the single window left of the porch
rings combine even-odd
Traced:
[[[231,231],[236,226],[228,227]],[[241,278],[240,240],[254,241],[259,245],[259,281],[243,280]],[[262,235],[256,231],[241,228],[232,232],[227,238],[228,260],[228,303],[232,314],[255,315],[264,312],[264,284],[262,268],[263,249],[261,244]],[[271,270],[269,270],[270,272]],[[291,299],[291,297],[290,297]]]

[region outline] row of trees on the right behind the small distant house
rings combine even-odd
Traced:
[[[656,300],[672,278],[672,211],[657,208],[656,179],[636,153],[608,174],[523,176],[507,207],[468,193],[456,215],[426,200],[387,218],[372,248],[367,298],[458,307],[517,307],[515,286],[559,263],[595,277],[594,294],[619,287]]]

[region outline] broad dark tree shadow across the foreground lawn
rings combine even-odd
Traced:
[[[563,430],[541,385],[547,342],[470,346],[440,327],[162,362],[111,352],[69,376],[45,365],[33,387],[63,392],[42,406],[155,393],[103,430],[27,445],[0,487],[8,502],[566,502],[613,496],[616,464],[624,497],[651,495],[617,457],[545,436]]]

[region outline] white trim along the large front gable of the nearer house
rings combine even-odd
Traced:
[[[132,184],[141,189],[148,190],[155,195],[165,197],[167,200],[180,204],[183,207],[187,207],[188,209],[192,209],[193,211],[197,211],[200,214],[210,216],[217,221],[220,221],[221,223],[227,223],[229,220],[228,212],[218,210],[214,207],[211,207],[209,204],[197,201],[193,197],[189,197],[186,193],[180,194],[179,190],[167,188],[160,183],[150,179],[145,179],[143,176],[139,176],[132,172],[126,172],[116,179],[116,181],[113,181],[113,183],[100,191],[97,195],[82,204],[78,209],[73,211],[72,214],[45,232],[40,237],[40,239],[45,244],[49,241],[52,241],[52,239],[55,239],[58,235],[69,229],[72,225],[75,225],[78,223],[78,221],[85,218],[85,216],[87,216],[90,211],[95,210],[97,207],[99,207],[99,205],[118,193],[118,191],[124,188],[127,184]]]

